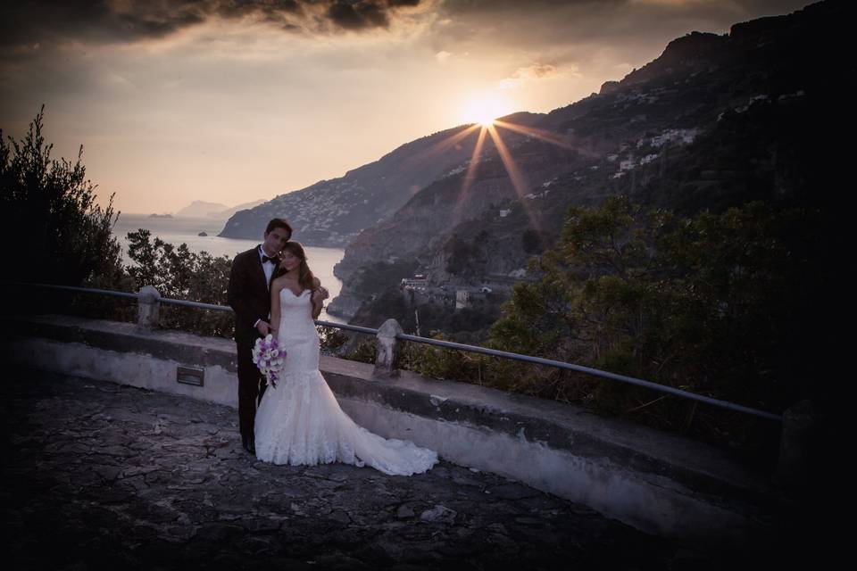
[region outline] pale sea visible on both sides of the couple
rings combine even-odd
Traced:
[[[128,255],[128,233],[137,232],[140,228],[149,230],[152,233],[153,239],[156,236],[164,242],[175,244],[176,246],[187,244],[187,248],[191,252],[208,252],[215,257],[226,255],[229,258],[233,258],[238,252],[244,252],[257,244],[262,244],[264,228],[259,229],[258,240],[220,238],[217,235],[225,224],[225,219],[152,218],[147,214],[121,213],[119,220],[117,220],[113,227],[113,235],[122,244],[122,260],[127,265],[132,263]],[[204,232],[208,236],[199,236],[201,232]],[[295,236],[295,239],[300,242],[300,236]],[[327,287],[330,292],[330,299],[325,302],[329,303],[330,300],[342,291],[342,282],[333,275],[333,267],[345,256],[345,250],[304,246],[304,252],[306,252],[307,261],[310,264],[312,273],[321,280],[321,285]],[[327,310],[321,310],[319,319],[335,323],[345,323],[345,319],[328,315]]]

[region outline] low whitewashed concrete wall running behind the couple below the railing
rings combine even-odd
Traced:
[[[4,319],[4,357],[77,377],[237,406],[235,344],[133,324],[47,316]],[[176,380],[204,369],[204,385]],[[507,476],[653,534],[746,542],[775,523],[764,478],[701,443],[555,401],[322,357],[331,389],[354,421],[446,460]]]

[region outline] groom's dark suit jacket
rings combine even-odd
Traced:
[[[254,344],[259,332],[253,324],[256,319],[268,321],[270,313],[270,292],[259,257],[259,246],[239,253],[232,261],[226,299],[235,310],[235,341]]]

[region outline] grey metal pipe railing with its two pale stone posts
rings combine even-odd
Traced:
[[[225,305],[214,305],[212,303],[201,303],[201,302],[188,302],[186,300],[174,300],[170,298],[161,297],[160,294],[154,290],[151,286],[146,286],[143,290],[140,291],[139,294],[129,294],[127,292],[116,292],[112,290],[102,290],[102,289],[92,289],[86,287],[72,287],[69,285],[48,285],[48,284],[30,284],[30,283],[22,283],[22,282],[0,282],[7,285],[21,285],[21,286],[29,286],[29,287],[43,287],[49,289],[61,289],[68,290],[72,292],[82,293],[82,294],[101,294],[101,295],[111,295],[115,297],[125,297],[125,298],[134,298],[137,300],[140,305],[140,311],[138,313],[138,324],[143,327],[151,328],[156,324],[157,321],[157,310],[152,310],[152,307],[149,307],[148,310],[144,310],[144,305],[154,306],[155,308],[159,303],[165,303],[168,305],[179,305],[184,307],[193,307],[203,310],[215,310],[215,311],[232,311],[232,308]],[[147,322],[144,322],[147,321]],[[153,322],[154,321],[154,322]],[[395,324],[394,327],[388,327],[389,322],[393,322]],[[682,389],[677,389],[667,385],[660,385],[658,383],[653,383],[652,381],[646,381],[644,379],[636,378],[636,377],[628,377],[626,375],[618,375],[616,373],[611,373],[609,371],[603,371],[597,368],[584,367],[582,365],[575,365],[573,363],[567,363],[560,360],[552,360],[552,359],[544,359],[542,357],[533,357],[532,355],[524,355],[520,353],[506,352],[506,351],[498,351],[495,349],[487,349],[486,347],[479,347],[478,345],[467,345],[463,343],[453,343],[450,341],[442,341],[439,339],[430,339],[428,337],[420,337],[417,335],[407,335],[402,332],[401,327],[398,327],[398,324],[395,323],[395,320],[389,319],[384,326],[380,329],[373,329],[371,327],[358,327],[353,325],[348,325],[344,323],[335,323],[332,321],[323,321],[316,319],[316,325],[324,326],[324,327],[335,327],[337,329],[344,329],[346,331],[354,331],[356,333],[363,333],[367,335],[376,335],[376,337],[381,339],[389,339],[393,340],[392,343],[395,345],[395,340],[398,341],[410,341],[412,343],[424,343],[428,345],[435,345],[438,347],[444,347],[446,349],[454,349],[458,351],[466,351],[473,352],[483,355],[489,355],[492,357],[500,357],[503,359],[510,360],[519,360],[528,363],[536,363],[538,365],[545,365],[553,368],[562,368],[566,370],[576,371],[578,373],[584,373],[593,377],[600,377],[605,379],[610,379],[613,381],[619,381],[621,383],[627,383],[629,385],[637,385],[642,386],[647,389],[651,389],[653,391],[657,391],[659,393],[667,393],[674,396],[678,396],[683,399],[687,399],[690,401],[703,402],[705,404],[709,404],[714,407],[718,407],[720,409],[726,410],[734,410],[737,412],[742,412],[754,417],[758,418],[767,418],[769,420],[775,420],[778,422],[782,422],[783,417],[781,415],[772,414],[770,412],[766,412],[764,410],[757,410],[750,407],[746,407],[741,404],[736,404],[735,402],[729,401],[721,401],[720,399],[714,399],[703,394],[691,393],[689,391],[685,391]],[[386,330],[386,331],[385,331]],[[395,340],[394,340],[395,338]],[[381,344],[381,343],[379,343]],[[381,349],[379,347],[379,359]],[[387,357],[387,369],[393,369],[395,371],[395,347],[387,346],[386,350]],[[379,363],[376,362],[376,369],[379,369]]]

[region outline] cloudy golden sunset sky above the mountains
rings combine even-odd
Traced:
[[[45,105],[99,203],[304,188],[395,147],[597,92],[691,31],[807,0],[30,0],[0,7],[0,128]]]

